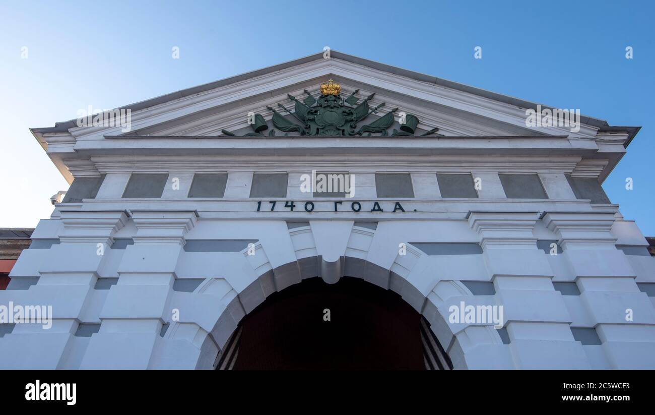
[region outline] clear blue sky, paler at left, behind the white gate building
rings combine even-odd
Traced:
[[[324,46],[641,125],[603,188],[655,236],[655,2],[0,1],[0,227],[33,227],[67,184],[28,128]],[[173,59],[172,47],[180,58]],[[482,59],[474,48],[482,47]],[[633,59],[626,59],[626,47]],[[24,47],[27,58],[24,58]],[[633,189],[626,190],[626,178]]]

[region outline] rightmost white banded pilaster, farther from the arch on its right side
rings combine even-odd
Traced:
[[[548,213],[544,224],[565,249],[580,302],[612,368],[655,368],[655,310],[610,230],[612,213]],[[586,346],[595,347],[595,346]]]

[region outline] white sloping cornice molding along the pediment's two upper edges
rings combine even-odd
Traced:
[[[189,96],[160,104],[158,106],[141,109],[132,113],[132,130],[150,127],[165,121],[177,119],[190,115],[203,109],[213,108],[230,102],[244,100],[260,94],[269,94],[280,90],[293,89],[293,85],[307,83],[307,81],[324,81],[324,77],[335,77],[343,83],[350,79],[354,83],[364,85],[375,85],[377,89],[388,90],[397,94],[418,98],[438,106],[453,108],[470,115],[487,118],[490,120],[525,127],[525,109],[496,102],[489,98],[483,98],[468,92],[449,89],[440,85],[434,85],[415,79],[409,79],[373,69],[366,66],[346,62],[339,59],[316,60],[301,64],[282,71],[260,75],[220,87],[214,90],[202,92],[196,96]],[[240,109],[243,111],[244,109]],[[564,127],[534,127],[530,128],[536,134],[565,134],[573,135],[570,130]],[[597,132],[596,127],[582,125],[580,132],[575,136],[588,136],[593,138]],[[88,139],[98,138],[104,134],[122,134],[121,127],[74,127],[70,130],[76,138]]]

